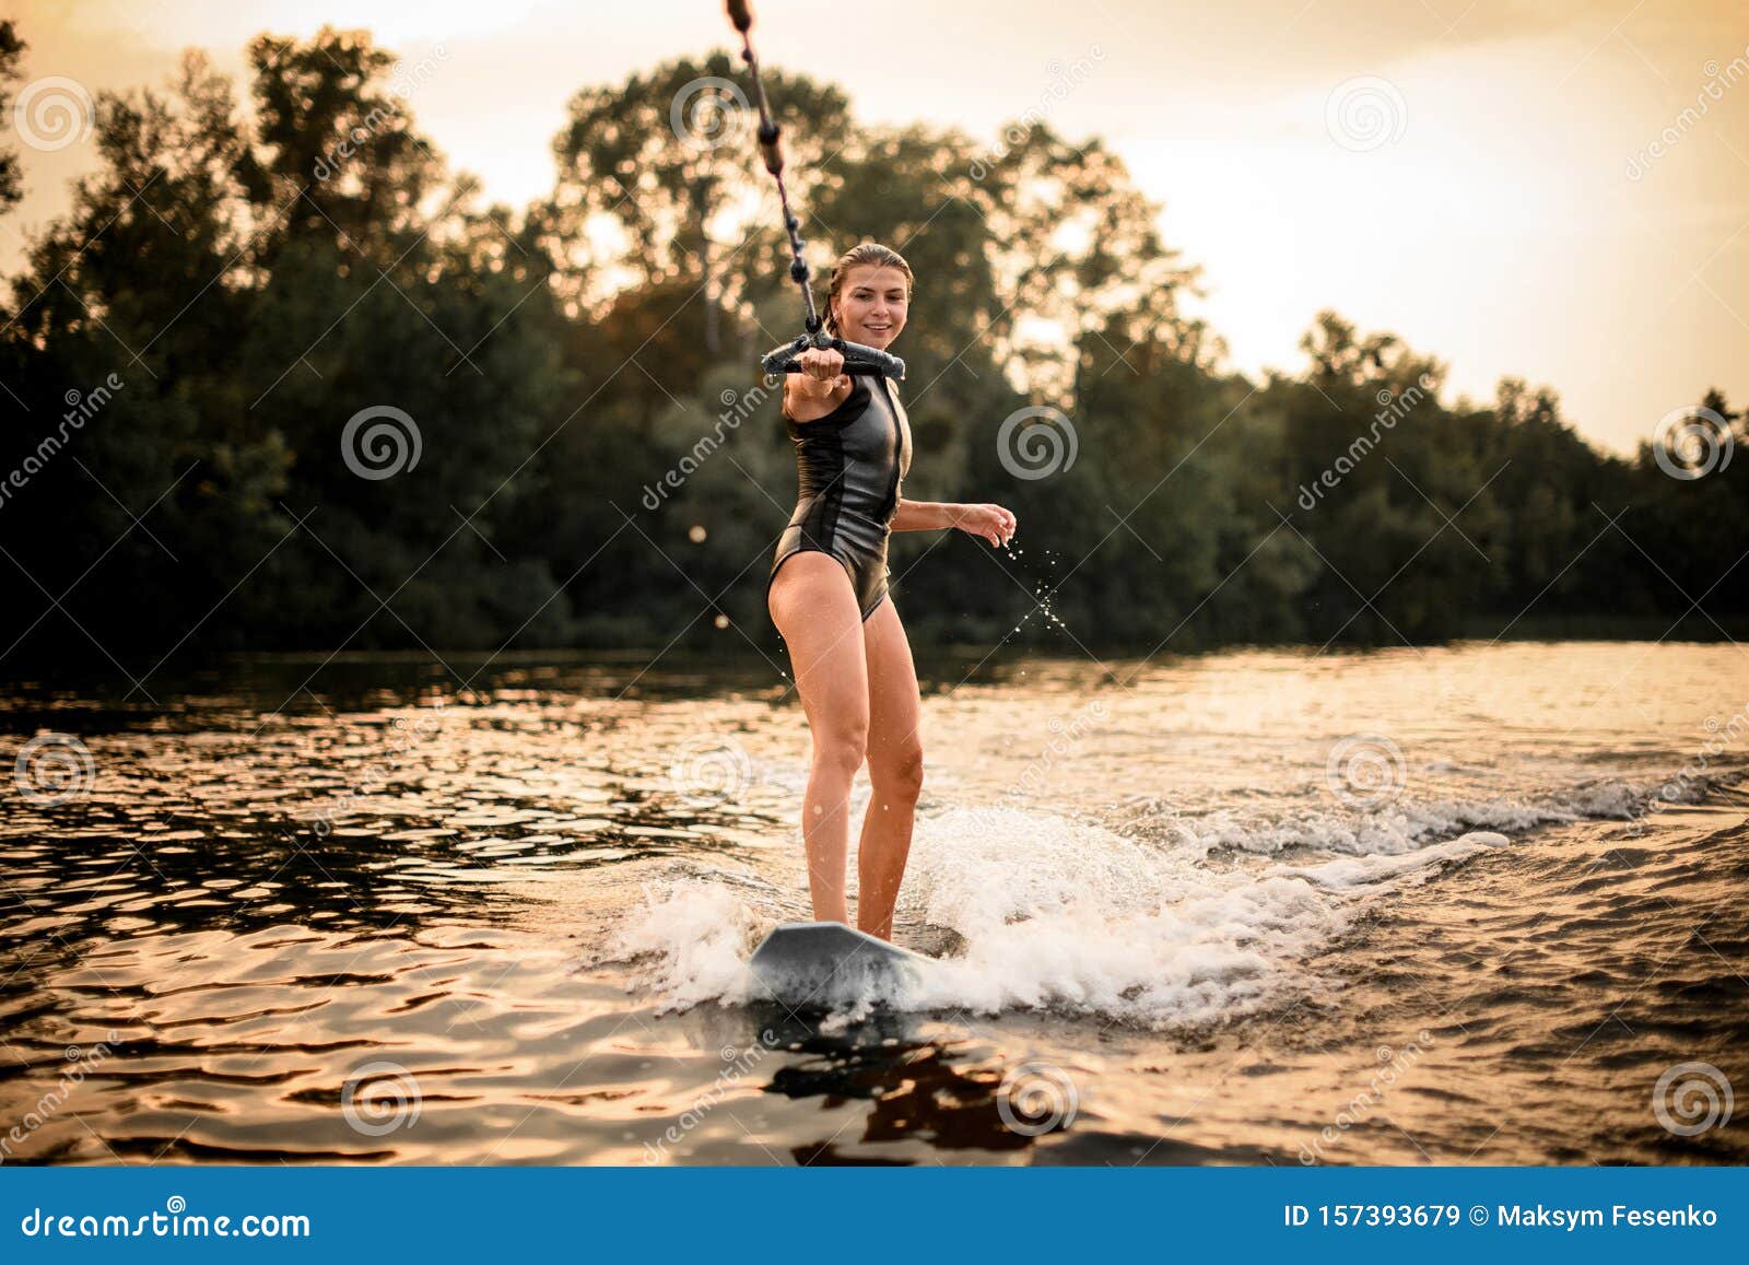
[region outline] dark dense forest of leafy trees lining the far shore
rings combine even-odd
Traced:
[[[0,98],[28,35],[0,26]],[[98,94],[98,168],[0,287],[10,663],[773,646],[794,460],[757,353],[799,304],[745,112],[693,100],[738,63],[577,91],[525,208],[420,133],[444,66],[332,30],[248,65],[247,112],[199,52]],[[1452,399],[1438,359],[1336,313],[1298,376],[1252,380],[1098,138],[871,128],[770,80],[815,266],[874,238],[916,273],[906,495],[1020,516],[1013,556],[894,537],[913,637],[1707,639],[1749,614],[1749,436],[1707,383],[1623,460],[1553,390]],[[0,133],[0,213],[19,154]]]

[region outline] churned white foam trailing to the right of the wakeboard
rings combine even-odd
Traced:
[[[1481,847],[1429,849],[1422,864]],[[1228,1018],[1291,983],[1352,905],[1310,873],[1214,871],[1195,847],[1023,810],[918,822],[911,856],[906,906],[965,938],[909,999],[930,1010],[1049,1008],[1147,1027]]]

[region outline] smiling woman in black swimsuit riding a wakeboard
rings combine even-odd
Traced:
[[[885,350],[904,329],[909,303],[911,266],[897,250],[864,241],[833,266],[826,327]],[[845,357],[833,350],[810,348],[798,360],[801,373],[784,383],[784,420],[801,495],[778,539],[766,605],[789,646],[813,733],[801,801],[808,891],[817,920],[850,922],[850,782],[866,756],[873,794],[857,843],[857,926],[892,940],[923,744],[911,646],[887,595],[887,535],[957,527],[1002,546],[1014,535],[1014,516],[1002,506],[904,500],[911,427],[894,385],[845,374]]]

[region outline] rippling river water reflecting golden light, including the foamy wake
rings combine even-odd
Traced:
[[[787,665],[14,686],[0,1158],[1749,1160],[1749,651],[923,660],[943,966],[824,1018]]]

